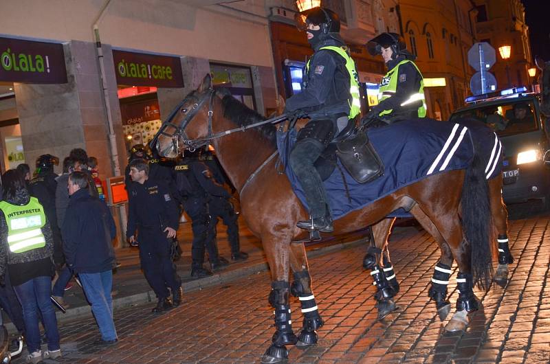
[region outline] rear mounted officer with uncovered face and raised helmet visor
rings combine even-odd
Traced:
[[[378,104],[371,108],[362,124],[382,120],[386,124],[426,116],[424,82],[413,62],[416,58],[407,50],[405,41],[397,33],[382,33],[366,43],[373,56],[380,54],[388,73],[380,82]]]

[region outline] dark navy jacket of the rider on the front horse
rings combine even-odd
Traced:
[[[287,99],[286,111],[305,111],[311,119],[349,114],[351,93],[346,60],[326,46],[342,47],[340,38],[328,38],[316,45],[304,75],[305,89]]]

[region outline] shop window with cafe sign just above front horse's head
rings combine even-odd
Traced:
[[[215,87],[228,89],[236,100],[239,100],[252,110],[256,110],[254,100],[254,84],[250,67],[210,63],[212,84]]]

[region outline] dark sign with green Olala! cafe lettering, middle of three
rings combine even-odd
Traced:
[[[157,56],[113,49],[118,84],[184,87],[179,57]]]

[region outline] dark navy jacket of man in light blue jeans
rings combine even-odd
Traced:
[[[87,189],[71,196],[61,233],[67,264],[76,273],[100,273],[114,268],[113,216],[107,205],[90,196]]]

